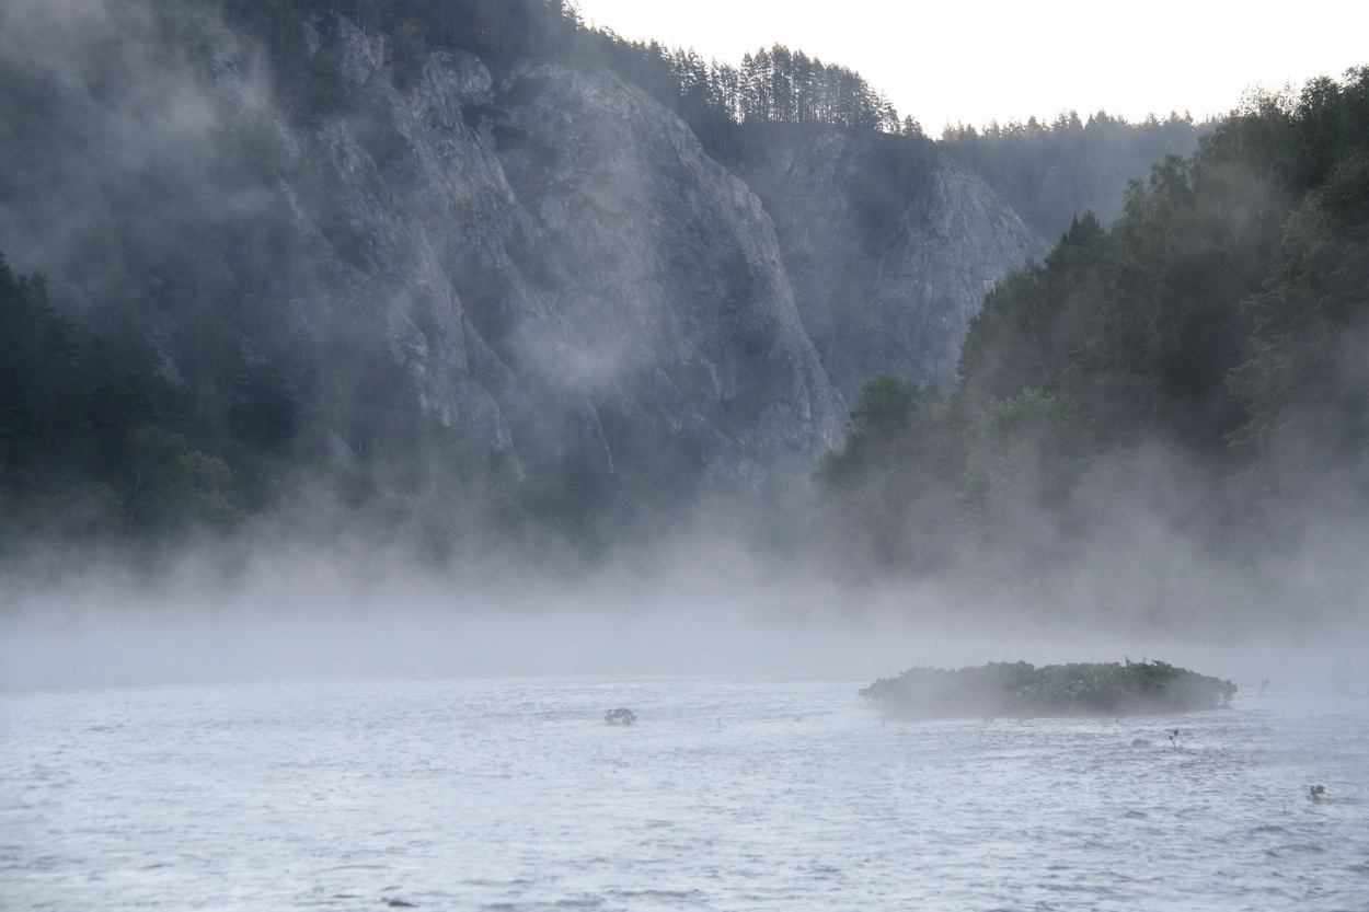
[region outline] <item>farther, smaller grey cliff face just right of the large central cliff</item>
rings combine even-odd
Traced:
[[[804,326],[850,400],[879,372],[956,382],[969,318],[1047,245],[983,181],[930,144],[772,137],[742,164],[775,218]]]

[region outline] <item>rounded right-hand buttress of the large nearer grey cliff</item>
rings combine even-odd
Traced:
[[[845,405],[771,220],[683,122],[561,66],[515,73],[494,108],[520,207],[513,255],[539,305],[483,319],[520,375],[590,404],[619,448],[648,426],[745,483],[767,464],[806,470],[839,440]]]

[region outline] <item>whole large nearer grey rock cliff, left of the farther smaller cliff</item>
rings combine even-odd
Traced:
[[[345,231],[319,255],[383,315],[423,408],[534,471],[661,449],[756,486],[839,441],[845,404],[768,216],[676,116],[609,74],[543,64],[496,84],[450,53],[400,90],[383,37],[320,29],[367,107],[289,145],[329,163]]]

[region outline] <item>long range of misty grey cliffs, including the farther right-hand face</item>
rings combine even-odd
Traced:
[[[346,459],[409,409],[527,471],[756,487],[869,375],[949,381],[1039,251],[961,168],[873,230],[879,137],[730,170],[602,68],[434,51],[401,79],[390,38],[318,16],[282,92],[207,7],[0,16],[0,249],[144,340],[209,435],[281,401]]]

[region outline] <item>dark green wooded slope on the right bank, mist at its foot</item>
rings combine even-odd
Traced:
[[[1235,601],[1346,596],[1369,505],[1366,356],[1355,68],[1253,96],[1132,182],[1110,229],[1076,218],[987,296],[954,390],[867,383],[817,475],[823,527],[843,560],[976,585],[1105,575],[1153,594],[1217,567]]]

